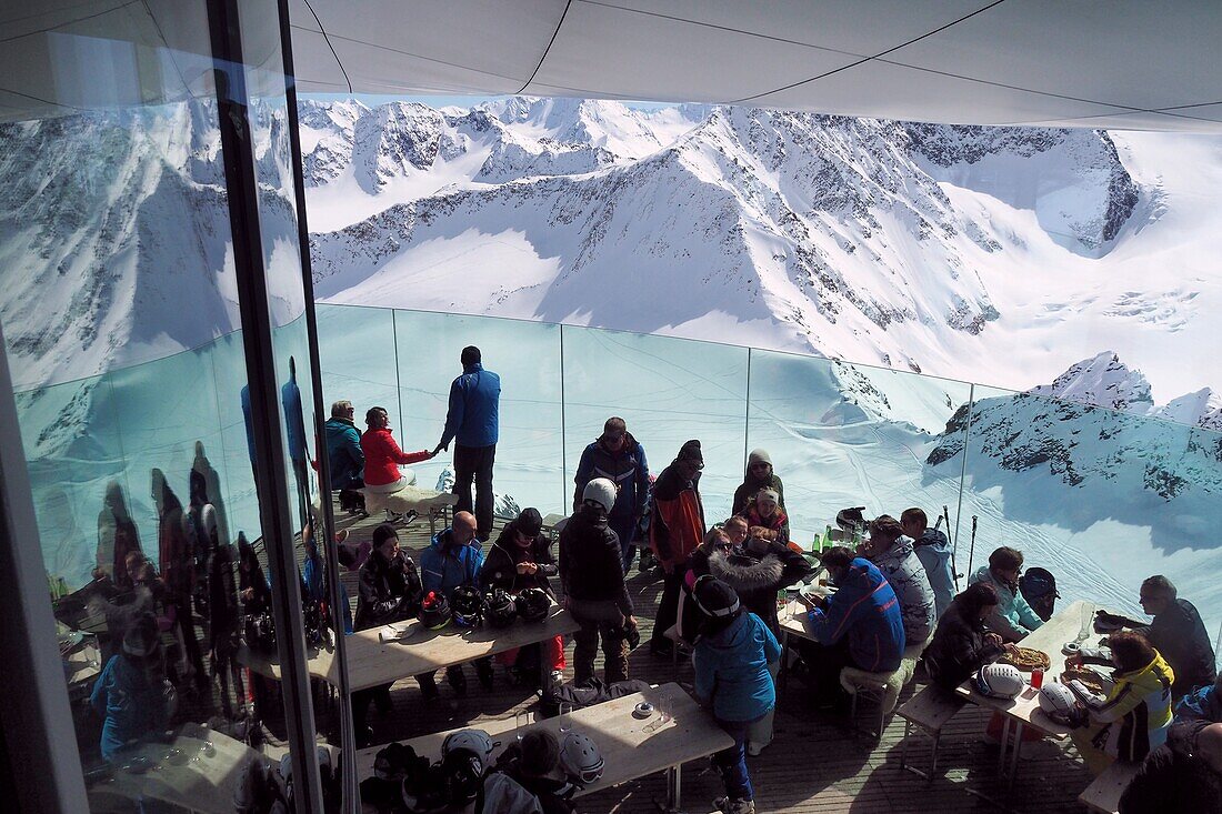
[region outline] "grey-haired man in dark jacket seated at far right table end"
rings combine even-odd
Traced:
[[[1154,616],[1150,625],[1111,614],[1100,615],[1134,628],[1162,654],[1176,671],[1176,683],[1171,688],[1174,698],[1187,695],[1196,687],[1212,684],[1217,678],[1213,645],[1196,606],[1187,599],[1178,599],[1176,585],[1163,576],[1154,576],[1141,583],[1139,601],[1141,610]]]

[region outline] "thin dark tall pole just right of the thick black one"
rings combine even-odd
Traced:
[[[331,625],[335,633],[335,659],[340,664],[340,749],[343,754],[343,801],[346,810],[360,808],[360,793],[357,785],[357,772],[353,771],[357,759],[356,732],[352,728],[352,688],[348,681],[347,643],[343,632],[343,596],[340,593],[340,557],[335,549],[335,516],[331,506],[331,467],[326,455],[326,430],[323,405],[323,364],[318,347],[318,318],[314,314],[314,275],[309,252],[309,224],[306,219],[306,180],[302,170],[302,142],[297,122],[297,78],[293,67],[293,45],[288,20],[288,4],[280,0],[280,50],[285,61],[285,95],[288,112],[288,144],[292,150],[293,193],[297,202],[297,240],[301,244],[302,287],[306,292],[306,330],[309,339],[310,379],[314,387],[314,433],[319,439],[316,453],[319,460],[319,505],[323,507],[323,530],[315,533],[314,541],[321,546],[326,561],[327,605],[331,606]],[[395,314],[391,312],[391,328]],[[396,370],[398,364],[398,346],[395,348]],[[400,402],[402,420],[402,401]]]

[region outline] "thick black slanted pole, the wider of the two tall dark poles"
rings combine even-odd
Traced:
[[[271,570],[273,614],[280,650],[285,704],[297,812],[321,812],[323,792],[314,758],[314,708],[306,670],[301,579],[293,545],[293,518],[288,507],[284,430],[276,386],[271,309],[259,222],[258,175],[254,166],[249,97],[242,55],[238,0],[209,0],[208,28],[216,81],[218,120],[225,161],[238,309],[251,391],[254,429],[255,494]],[[296,491],[296,490],[295,490]]]

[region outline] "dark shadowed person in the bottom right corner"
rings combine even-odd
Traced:
[[[1121,796],[1121,814],[1204,814],[1222,807],[1222,724],[1174,724]]]

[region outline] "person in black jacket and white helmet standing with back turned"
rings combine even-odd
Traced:
[[[560,533],[560,583],[565,605],[582,626],[573,634],[573,681],[594,675],[594,656],[602,638],[604,678],[628,678],[628,631],[637,627],[632,596],[623,581],[620,538],[607,527],[615,505],[615,484],[595,478],[585,485],[579,512]]]

